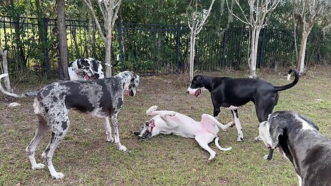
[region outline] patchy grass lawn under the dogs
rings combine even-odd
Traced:
[[[276,110],[293,110],[308,116],[321,132],[331,137],[331,76],[330,67],[311,68],[308,75],[290,90],[280,92]],[[261,70],[261,78],[274,85],[285,85],[288,69]],[[202,74],[202,73],[200,73]],[[217,76],[244,77],[248,72],[223,70],[204,73]],[[293,78],[292,78],[293,79]],[[41,86],[41,85],[40,85]],[[37,90],[39,85],[20,84],[15,92]],[[119,116],[121,143],[128,152],[106,143],[103,120],[86,114],[70,113],[70,129],[57,147],[53,164],[66,175],[53,180],[47,167],[32,170],[25,152],[36,129],[32,99],[12,99],[0,95],[0,185],[298,185],[297,174],[290,161],[275,152],[272,161],[263,143],[255,143],[258,120],[254,105],[239,109],[245,139],[237,142],[237,130],[219,132],[219,143],[232,146],[231,152],[217,152],[216,160],[208,162],[209,154],[190,138],[160,135],[148,141],[137,141],[132,131],[139,130],[149,120],[145,111],[152,105],[160,110],[174,110],[200,120],[201,114],[212,114],[210,93],[199,98],[185,93],[188,85],[182,76],[141,77],[137,96],[125,98]],[[7,107],[11,101],[19,107]],[[232,121],[230,111],[222,109],[221,123]],[[36,152],[37,163],[50,141],[50,132]]]

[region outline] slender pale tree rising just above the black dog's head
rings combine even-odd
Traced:
[[[191,0],[190,5],[188,6],[187,10],[187,17],[188,17],[188,27],[191,30],[190,34],[190,80],[193,79],[193,72],[194,72],[194,47],[195,47],[195,40],[197,34],[202,30],[205,21],[210,14],[210,10],[212,10],[212,5],[214,4],[215,0],[212,0],[208,10],[203,9],[198,11],[198,0]]]

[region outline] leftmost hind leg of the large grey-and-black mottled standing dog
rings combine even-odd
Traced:
[[[26,152],[28,152],[32,169],[41,169],[45,167],[45,165],[43,165],[42,163],[36,162],[36,158],[34,158],[34,152],[36,152],[37,146],[39,145],[41,138],[43,138],[43,134],[45,134],[49,130],[47,122],[45,121],[43,116],[41,116],[41,114],[37,114],[37,118],[38,127],[36,134],[34,135],[34,138],[30,142],[28,147],[26,147]]]

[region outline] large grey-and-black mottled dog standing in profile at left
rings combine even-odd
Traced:
[[[1,78],[8,74],[1,74]],[[117,116],[123,105],[123,94],[134,96],[139,85],[139,76],[134,72],[121,72],[116,76],[94,81],[63,81],[46,85],[36,92],[14,94],[3,90],[0,83],[0,90],[4,94],[13,97],[34,96],[34,113],[38,118],[37,132],[30,145],[26,148],[32,169],[41,169],[45,165],[36,163],[34,152],[48,130],[52,132],[50,143],[41,157],[46,160],[52,178],[63,178],[61,172],[57,172],[52,164],[52,156],[57,145],[68,132],[70,121],[69,110],[77,110],[92,114],[105,119],[107,141],[116,143],[119,150],[125,152],[126,147],[119,141]],[[110,121],[114,130],[110,129]]]

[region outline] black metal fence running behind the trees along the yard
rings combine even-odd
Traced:
[[[94,57],[103,61],[104,47],[92,21],[67,20],[68,59]],[[298,34],[297,34],[298,35]],[[43,76],[58,74],[57,23],[55,19],[0,17],[1,46],[8,50],[9,68]],[[308,64],[330,63],[331,37],[312,32],[308,39]],[[297,41],[299,43],[299,41]],[[197,35],[194,68],[248,69],[249,30],[205,27]],[[169,74],[188,69],[190,30],[184,25],[118,23],[112,39],[115,73],[133,70],[139,74]],[[294,37],[289,30],[261,30],[258,67],[294,65]]]

